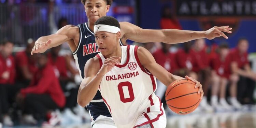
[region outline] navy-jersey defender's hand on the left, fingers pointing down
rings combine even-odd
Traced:
[[[38,39],[37,41],[35,41],[35,45],[31,51],[31,55],[33,55],[34,53],[44,53],[47,49],[49,49],[51,42],[52,39],[46,42],[39,41]]]

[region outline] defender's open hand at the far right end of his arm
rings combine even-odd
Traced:
[[[204,32],[205,38],[212,40],[216,37],[223,36],[224,38],[228,39],[228,37],[224,34],[224,32],[231,33],[231,31],[229,31],[231,29],[232,28],[229,28],[229,26],[222,26],[222,27],[214,26],[211,29]]]

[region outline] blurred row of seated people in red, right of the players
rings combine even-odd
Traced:
[[[255,104],[256,73],[248,60],[248,41],[241,38],[235,48],[227,43],[207,46],[204,39],[172,45],[145,44],[156,62],[172,74],[193,77],[203,85],[199,108],[205,112],[241,110]],[[157,81],[156,95],[165,103],[166,86]]]

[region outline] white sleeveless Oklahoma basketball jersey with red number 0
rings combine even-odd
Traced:
[[[139,118],[152,110],[162,113],[160,100],[154,94],[156,78],[141,65],[137,49],[134,45],[122,46],[121,65],[115,65],[106,73],[99,86],[117,128],[133,128],[146,123]],[[101,53],[96,56],[102,66],[105,57]],[[153,109],[154,104],[160,106]],[[148,122],[158,120],[159,115],[152,115]]]

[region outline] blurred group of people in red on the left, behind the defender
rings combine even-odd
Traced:
[[[56,125],[58,114],[83,122],[88,114],[76,102],[81,78],[72,53],[57,46],[30,55],[33,46],[30,39],[24,52],[12,53],[12,42],[0,45],[1,122],[37,125],[41,120],[43,125]]]

